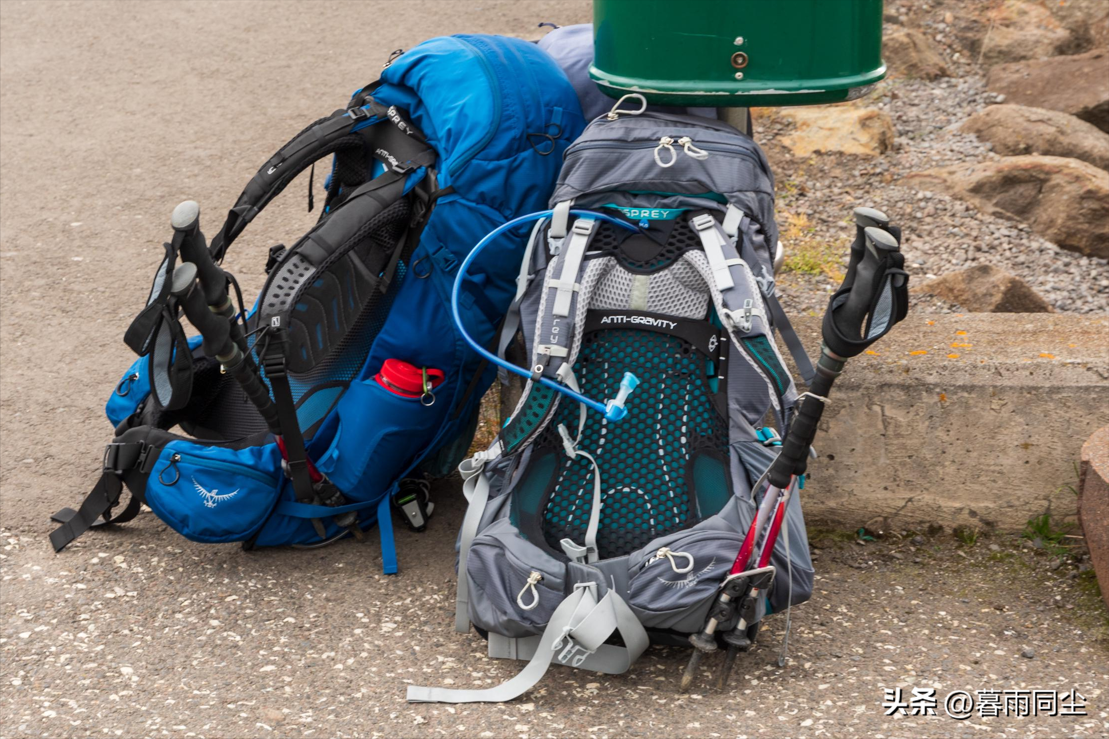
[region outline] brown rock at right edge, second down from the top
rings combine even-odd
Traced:
[[[998,64],[986,86],[1006,102],[1077,115],[1109,132],[1109,51]]]

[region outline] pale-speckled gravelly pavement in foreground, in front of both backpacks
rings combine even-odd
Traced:
[[[812,601],[766,619],[726,691],[652,648],[622,676],[556,667],[506,705],[409,705],[405,685],[515,674],[451,629],[457,483],[399,575],[376,542],[246,554],[146,513],[54,556],[7,533],[0,554],[0,735],[150,737],[1102,737],[1109,622],[1089,574],[1009,537],[906,534],[861,546],[814,532]],[[989,587],[983,587],[988,581]],[[1027,655],[1027,656],[1022,656]],[[706,667],[713,661],[706,660]],[[935,688],[936,716],[887,717],[884,689]],[[944,711],[953,690],[1077,690],[1087,716]]]

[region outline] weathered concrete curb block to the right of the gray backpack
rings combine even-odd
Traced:
[[[806,347],[820,319],[801,318]],[[1019,531],[1072,516],[1082,442],[1109,418],[1109,317],[914,314],[836,384],[811,523]]]

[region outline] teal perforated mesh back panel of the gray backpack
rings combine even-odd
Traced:
[[[590,411],[578,444],[600,466],[597,543],[603,558],[628,554],[715,513],[699,514],[689,468],[699,452],[728,459],[728,425],[709,398],[702,355],[678,337],[648,330],[604,329],[584,337],[574,365],[583,394],[611,397],[624,371],[642,382],[628,402],[628,415],[609,423]],[[571,437],[577,433],[578,409],[577,403],[560,403],[536,442],[558,455],[541,523],[543,538],[556,552],[563,537],[583,543],[592,505],[592,466],[582,456],[566,456],[557,431],[562,423]],[[726,481],[724,485],[726,490]]]

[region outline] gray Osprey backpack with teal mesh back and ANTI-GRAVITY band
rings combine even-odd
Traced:
[[[489,689],[409,686],[409,700],[510,700],[552,663],[618,674],[651,643],[689,646],[795,413],[775,333],[813,371],[774,294],[762,151],[722,122],[629,97],[566,152],[502,332],[501,351],[522,333],[532,379],[492,445],[459,468],[456,628],[472,624],[491,657],[528,665]],[[618,421],[539,382],[603,398],[624,372],[639,387]],[[765,613],[812,592],[796,495],[772,547],[752,637]]]

